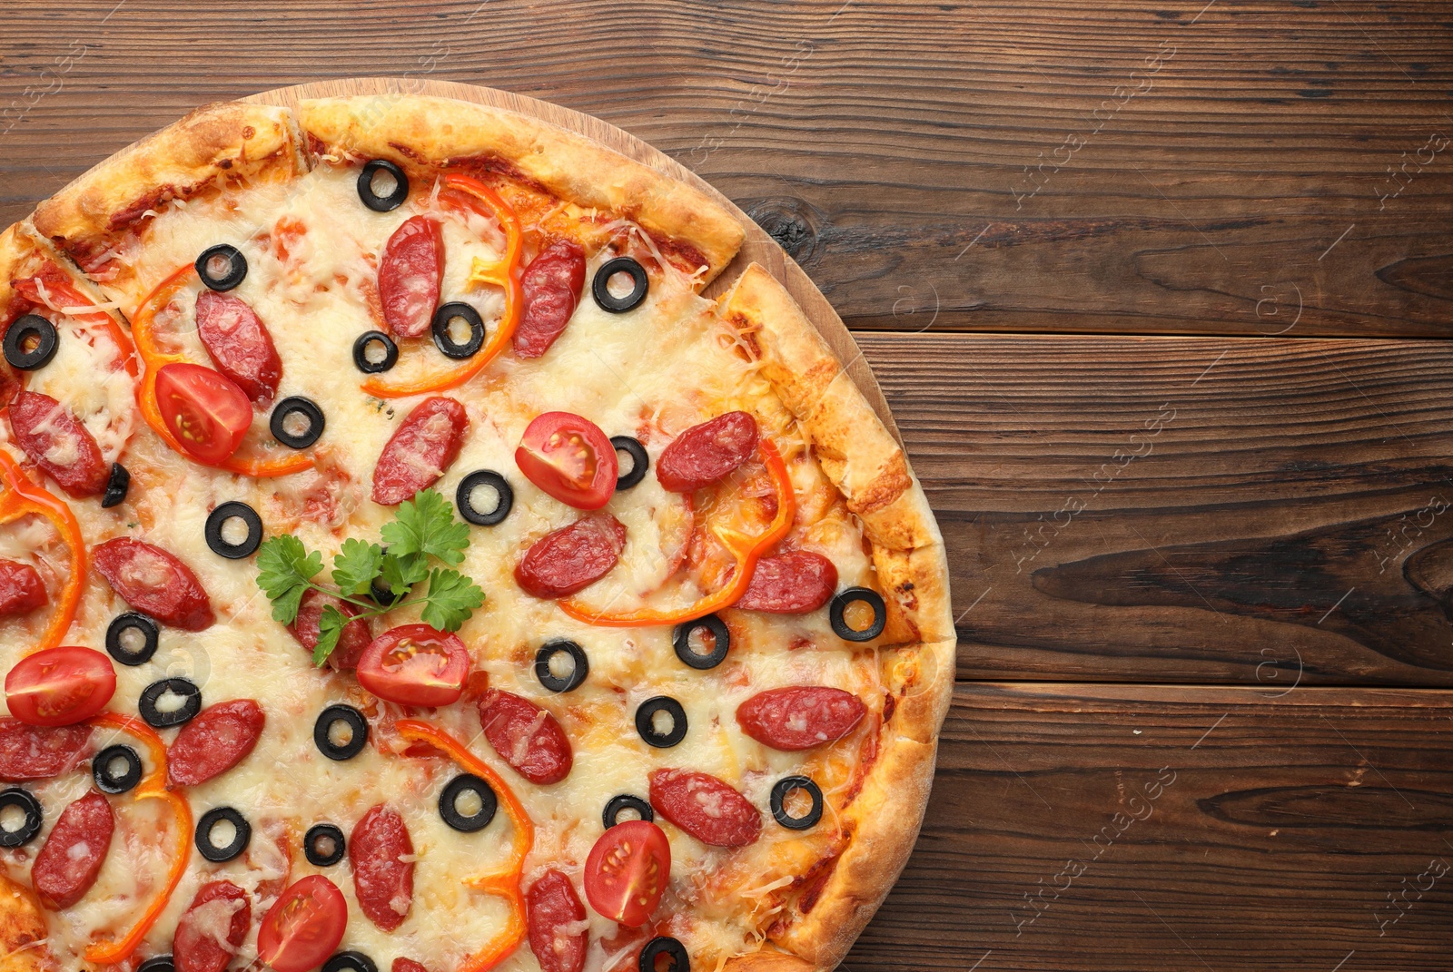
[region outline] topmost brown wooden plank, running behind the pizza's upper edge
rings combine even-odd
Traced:
[[[1447,3],[115,6],[7,4],[0,221],[196,103],[408,74],[658,145],[851,325],[1447,334]]]

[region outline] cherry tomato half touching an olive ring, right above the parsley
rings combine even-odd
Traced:
[[[606,433],[568,411],[536,416],[525,430],[514,465],[530,482],[577,510],[599,510],[616,491],[620,463]]]

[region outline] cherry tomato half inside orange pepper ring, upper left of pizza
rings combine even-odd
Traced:
[[[227,462],[253,424],[253,402],[237,382],[201,365],[164,365],[157,407],[182,447],[209,466]]]

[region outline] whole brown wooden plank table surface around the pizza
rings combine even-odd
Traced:
[[[873,365],[959,690],[846,968],[1453,966],[1453,4],[12,0],[0,224],[413,74],[737,201]]]

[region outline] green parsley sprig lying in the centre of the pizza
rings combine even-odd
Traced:
[[[308,590],[323,591],[356,607],[356,617],[376,617],[400,607],[423,604],[423,620],[440,631],[459,631],[477,607],[484,604],[484,591],[472,580],[453,570],[464,561],[469,546],[469,527],[455,520],[453,507],[434,490],[424,490],[413,500],[398,504],[394,519],[379,530],[381,543],[365,543],[350,538],[333,555],[333,587],[314,583],[323,572],[323,554],[308,551],[296,536],[270,538],[257,552],[257,586],[273,604],[273,620],[291,625],[298,619],[298,607]],[[430,567],[442,561],[448,567]],[[386,607],[369,594],[375,580],[402,599],[416,586],[429,581],[423,597],[395,602]],[[321,665],[339,645],[343,626],[349,623],[333,604],[318,617],[318,645],[312,661]]]

